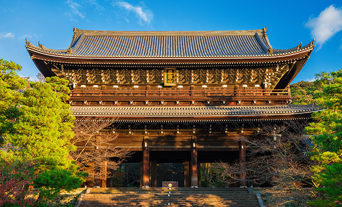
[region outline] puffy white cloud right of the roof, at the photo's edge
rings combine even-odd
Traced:
[[[312,17],[305,25],[311,28],[311,35],[319,48],[332,36],[342,30],[342,8],[330,5],[318,17]]]

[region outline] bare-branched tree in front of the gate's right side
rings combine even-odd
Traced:
[[[262,189],[272,194],[274,206],[314,196],[312,191],[303,190],[312,186],[313,161],[307,155],[310,142],[304,135],[306,125],[303,122],[264,124],[263,130],[253,136],[241,137],[246,143],[246,161],[220,163],[224,182],[233,184],[244,179],[250,186],[272,186]]]

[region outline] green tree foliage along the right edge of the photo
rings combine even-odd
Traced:
[[[315,100],[326,110],[313,114],[315,120],[306,128],[313,134],[313,180],[322,198],[310,206],[342,206],[342,69],[316,75]]]

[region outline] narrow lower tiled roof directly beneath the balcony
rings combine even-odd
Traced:
[[[229,117],[301,114],[321,109],[312,104],[290,104],[269,106],[71,106],[71,110],[74,116]]]

